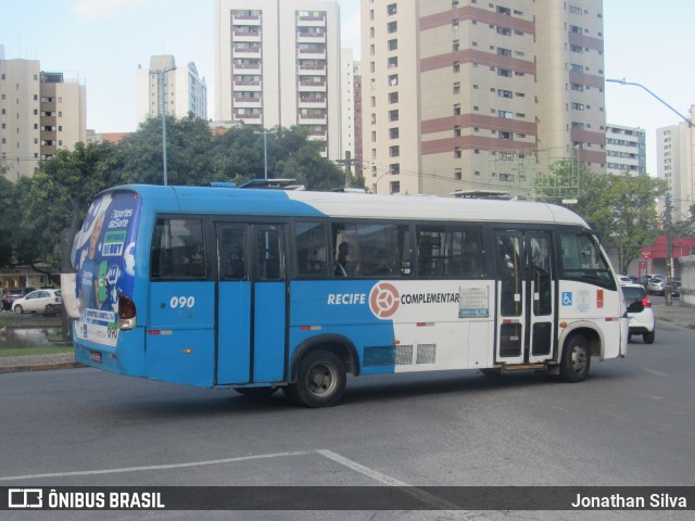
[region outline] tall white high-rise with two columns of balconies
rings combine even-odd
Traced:
[[[341,158],[338,2],[218,0],[215,63],[216,119],[301,126]]]

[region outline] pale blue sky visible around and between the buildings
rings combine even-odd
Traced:
[[[361,2],[339,3],[342,47],[359,58]],[[7,60],[39,60],[42,71],[79,76],[88,128],[134,131],[136,71],[149,67],[153,54],[195,64],[215,117],[213,12],[214,0],[0,0],[0,46]],[[688,116],[695,104],[693,20],[692,0],[604,0],[606,78],[641,84]],[[646,130],[647,171],[656,175],[656,129],[682,119],[642,88],[612,82],[606,85],[606,117]]]

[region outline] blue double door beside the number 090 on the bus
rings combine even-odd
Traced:
[[[216,226],[217,383],[285,378],[286,266],[282,225]]]

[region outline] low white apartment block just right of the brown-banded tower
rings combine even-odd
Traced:
[[[606,125],[606,173],[647,173],[646,132],[642,128]]]

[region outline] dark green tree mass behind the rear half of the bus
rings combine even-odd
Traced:
[[[212,136],[207,123],[192,116],[167,117],[168,185],[242,183],[264,177],[263,134],[235,128]],[[343,186],[342,170],[320,156],[318,144],[300,127],[267,134],[269,178],[294,178],[307,190]],[[81,221],[93,196],[124,183],[163,183],[162,118],[114,144],[78,143],[41,162],[33,178],[16,183],[0,176],[0,265],[60,266],[61,232]],[[77,209],[74,215],[73,208]]]

